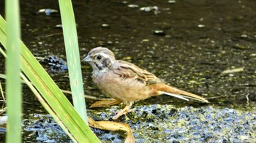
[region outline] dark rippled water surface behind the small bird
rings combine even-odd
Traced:
[[[22,39],[38,57],[57,55],[65,60],[58,1],[20,1]],[[148,12],[143,7],[156,6]],[[208,98],[210,104],[159,96],[135,105],[173,104],[212,106],[241,111],[256,109],[256,1],[73,1],[78,25],[80,58],[93,47],[108,47],[116,58],[135,63],[170,85]],[[4,1],[0,1],[4,15]],[[1,67],[4,58],[0,55]],[[69,90],[67,71],[43,65],[61,89]],[[227,69],[242,71],[228,72]],[[85,93],[98,96],[91,68],[82,63]],[[4,68],[0,69],[4,73]],[[1,80],[1,82],[3,82]],[[23,113],[44,114],[37,98],[24,85]],[[89,106],[93,101],[87,100]],[[97,109],[96,109],[97,111]]]

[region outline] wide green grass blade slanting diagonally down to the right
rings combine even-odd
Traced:
[[[0,42],[6,47],[6,23],[0,17]],[[55,82],[50,78],[45,69],[34,58],[29,49],[20,41],[21,45],[21,69],[42,94],[44,100],[53,109],[51,115],[59,117],[62,123],[68,128],[68,131],[74,136],[74,142],[99,142],[97,136],[91,131],[84,120],[75,111],[72,104]],[[58,121],[58,120],[56,120]],[[64,130],[65,131],[65,130]]]

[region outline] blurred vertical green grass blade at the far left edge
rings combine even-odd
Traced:
[[[7,142],[21,142],[20,9],[18,0],[6,1],[7,18]]]

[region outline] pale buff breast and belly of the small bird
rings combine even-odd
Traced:
[[[102,93],[123,102],[139,101],[151,96],[151,89],[145,83],[134,78],[121,78],[112,71],[93,75],[93,81]]]

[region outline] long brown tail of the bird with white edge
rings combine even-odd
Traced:
[[[209,103],[206,100],[206,98],[197,96],[193,93],[189,93],[189,92],[184,91],[184,90],[179,90],[177,88],[173,88],[169,85],[161,84],[160,87],[158,87],[158,88],[159,88],[158,93],[160,93],[160,94],[167,94],[168,96],[181,98],[181,99],[184,99],[184,100],[187,100],[187,101],[189,101],[188,98],[192,98],[192,99],[197,100],[197,101],[202,101],[202,102],[205,102],[205,103]]]

